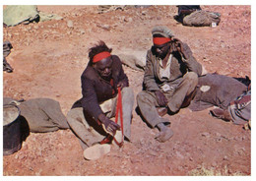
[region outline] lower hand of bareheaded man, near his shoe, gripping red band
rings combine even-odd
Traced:
[[[102,123],[104,131],[111,136],[115,135],[116,130],[120,130],[120,126],[108,119],[104,114],[99,114],[98,119]]]

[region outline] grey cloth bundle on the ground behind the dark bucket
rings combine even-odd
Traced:
[[[27,129],[30,132],[46,133],[69,128],[66,116],[56,100],[50,98],[15,100],[4,97],[3,104],[15,104],[20,108],[21,118],[28,123]]]

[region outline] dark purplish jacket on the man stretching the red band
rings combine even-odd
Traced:
[[[72,108],[83,107],[84,111],[93,116],[95,120],[99,114],[103,113],[99,103],[116,96],[117,84],[120,81],[126,81],[128,85],[128,78],[123,71],[120,59],[116,55],[111,56],[113,60],[111,67],[113,84],[111,85],[101,79],[96,69],[88,65],[81,76],[83,97],[72,106]]]

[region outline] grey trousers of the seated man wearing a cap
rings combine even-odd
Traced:
[[[198,84],[198,76],[194,72],[188,72],[184,75],[179,85],[174,90],[163,92],[168,100],[167,107],[172,112],[180,109],[186,96],[190,95]],[[142,116],[146,121],[155,127],[168,120],[161,118],[156,107],[160,107],[157,96],[154,91],[141,91],[137,95],[137,103],[141,110]]]

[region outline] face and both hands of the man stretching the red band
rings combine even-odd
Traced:
[[[112,78],[112,68],[111,68],[112,63],[113,63],[112,56],[109,56],[96,62],[93,65],[98,75],[107,82],[110,82]],[[125,81],[121,81],[117,84],[117,87],[120,87],[121,90],[127,86],[128,85]],[[105,127],[105,131],[112,136],[115,135],[116,130],[120,130],[120,126],[114,121],[111,121],[110,119],[108,119],[103,113],[99,114],[98,120]]]

